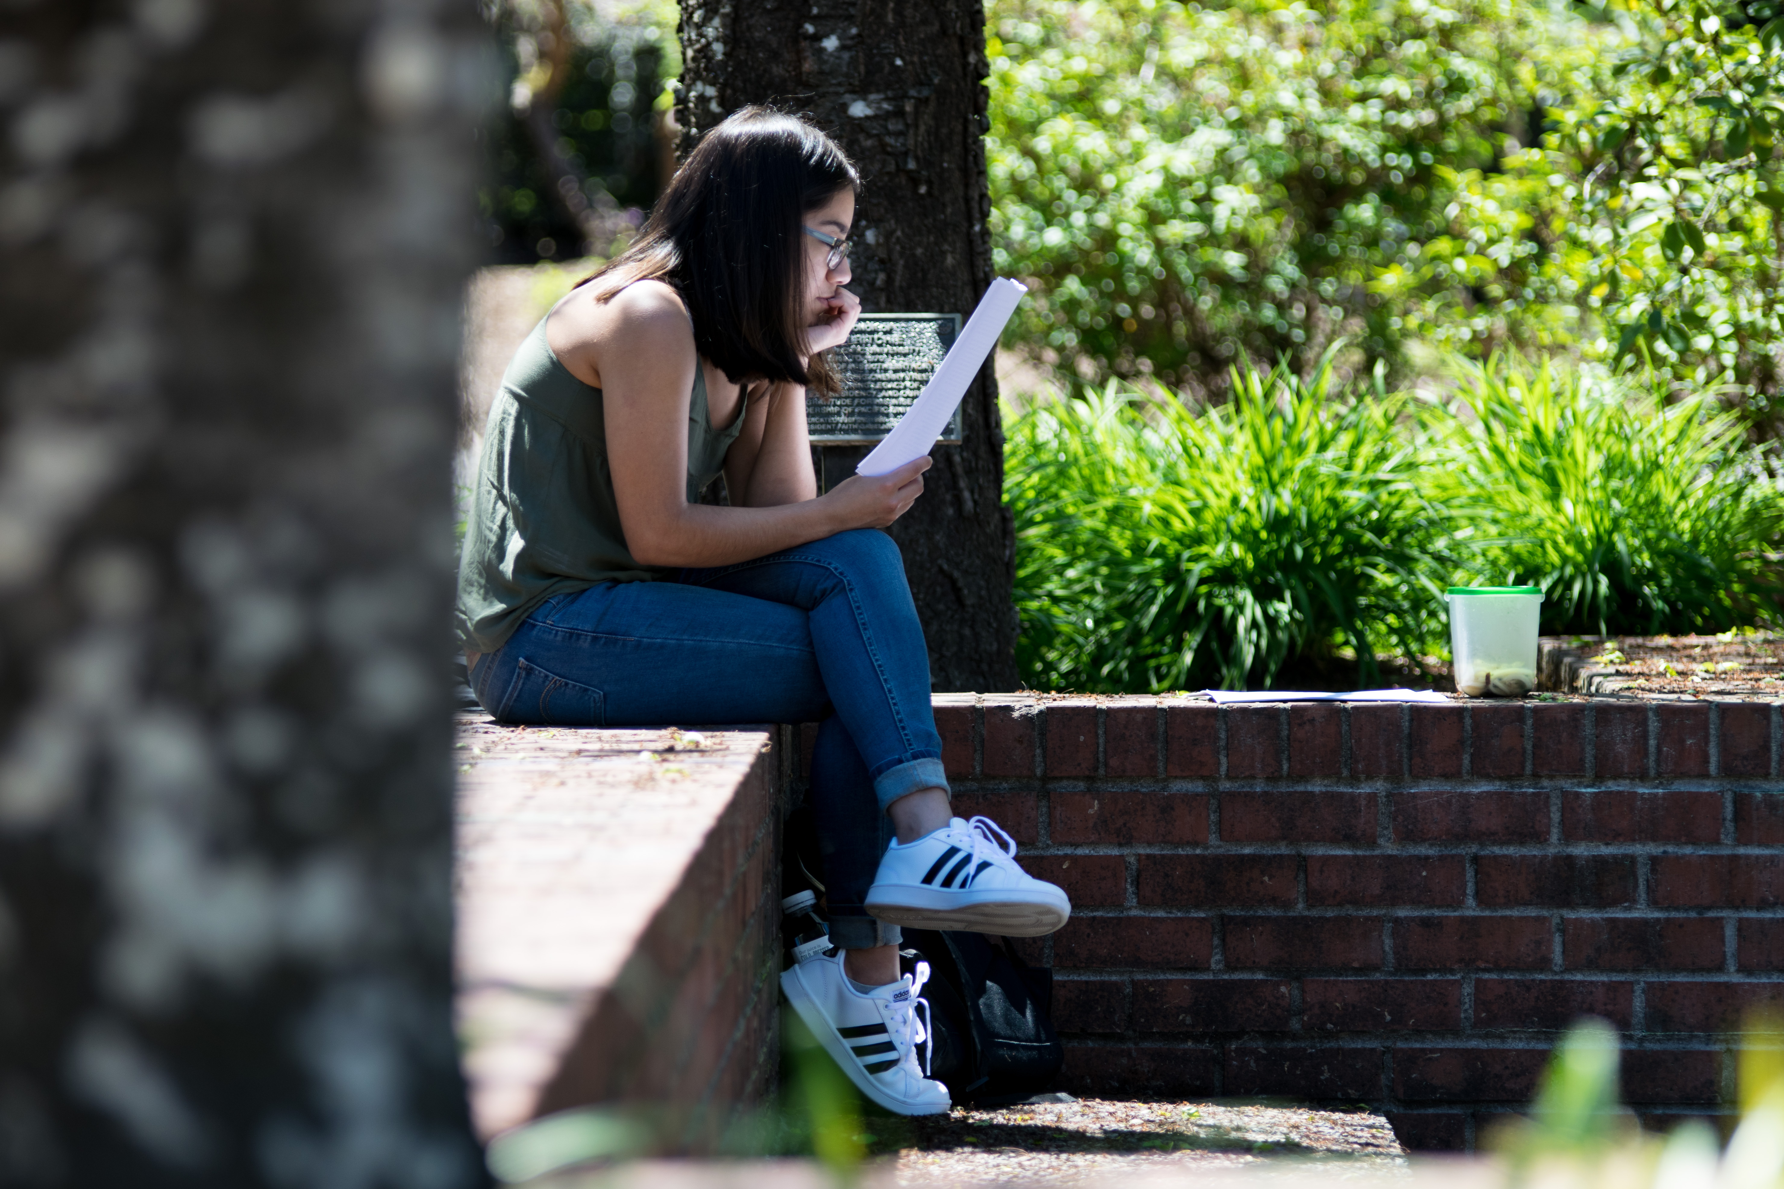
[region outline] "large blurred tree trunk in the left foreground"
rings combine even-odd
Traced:
[[[0,5],[0,1184],[483,1182],[467,0]]]

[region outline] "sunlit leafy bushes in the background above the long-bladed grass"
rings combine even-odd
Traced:
[[[1652,360],[1784,428],[1779,0],[995,0],[1012,330],[1201,390],[1338,335]],[[1051,355],[1049,355],[1051,353]]]

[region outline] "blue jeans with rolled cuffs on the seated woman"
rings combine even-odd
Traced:
[[[885,808],[947,777],[922,624],[885,533],[548,599],[478,658],[471,686],[500,722],[822,720],[810,795],[830,934],[844,948],[899,941],[863,907],[890,841]]]

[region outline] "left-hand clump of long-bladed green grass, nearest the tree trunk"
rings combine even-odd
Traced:
[[[1295,661],[1416,654],[1434,633],[1441,519],[1402,399],[1233,371],[1195,412],[1110,383],[1015,417],[1017,658],[1033,688],[1268,686]],[[1436,569],[1434,569],[1436,567]]]

